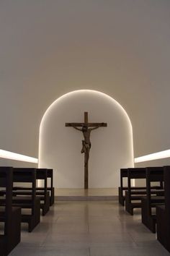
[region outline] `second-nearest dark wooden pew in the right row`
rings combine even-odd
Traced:
[[[148,167],[146,168],[146,197],[141,197],[142,203],[142,223],[156,233],[156,205],[164,204],[164,191],[159,191],[159,194],[151,194],[152,182],[164,181],[164,168],[163,167]]]

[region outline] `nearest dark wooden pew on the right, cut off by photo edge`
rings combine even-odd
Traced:
[[[165,204],[156,206],[157,239],[170,252],[170,166],[164,166]]]

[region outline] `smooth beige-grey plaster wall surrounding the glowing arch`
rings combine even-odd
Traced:
[[[0,1],[1,148],[37,157],[48,106],[92,89],[128,112],[135,157],[169,149],[169,27],[168,0]]]

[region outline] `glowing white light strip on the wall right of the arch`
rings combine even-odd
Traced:
[[[164,151],[160,151],[150,155],[143,155],[143,156],[140,156],[139,158],[135,158],[135,163],[141,163],[141,162],[152,161],[152,160],[161,159],[161,158],[169,158],[169,157],[170,157],[170,150],[164,150]]]

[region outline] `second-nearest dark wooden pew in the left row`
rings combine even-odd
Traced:
[[[40,198],[36,197],[36,168],[13,168],[13,182],[30,183],[29,196],[12,197],[12,205],[22,209],[30,209],[30,213],[22,213],[22,222],[28,223],[31,232],[40,223]]]

